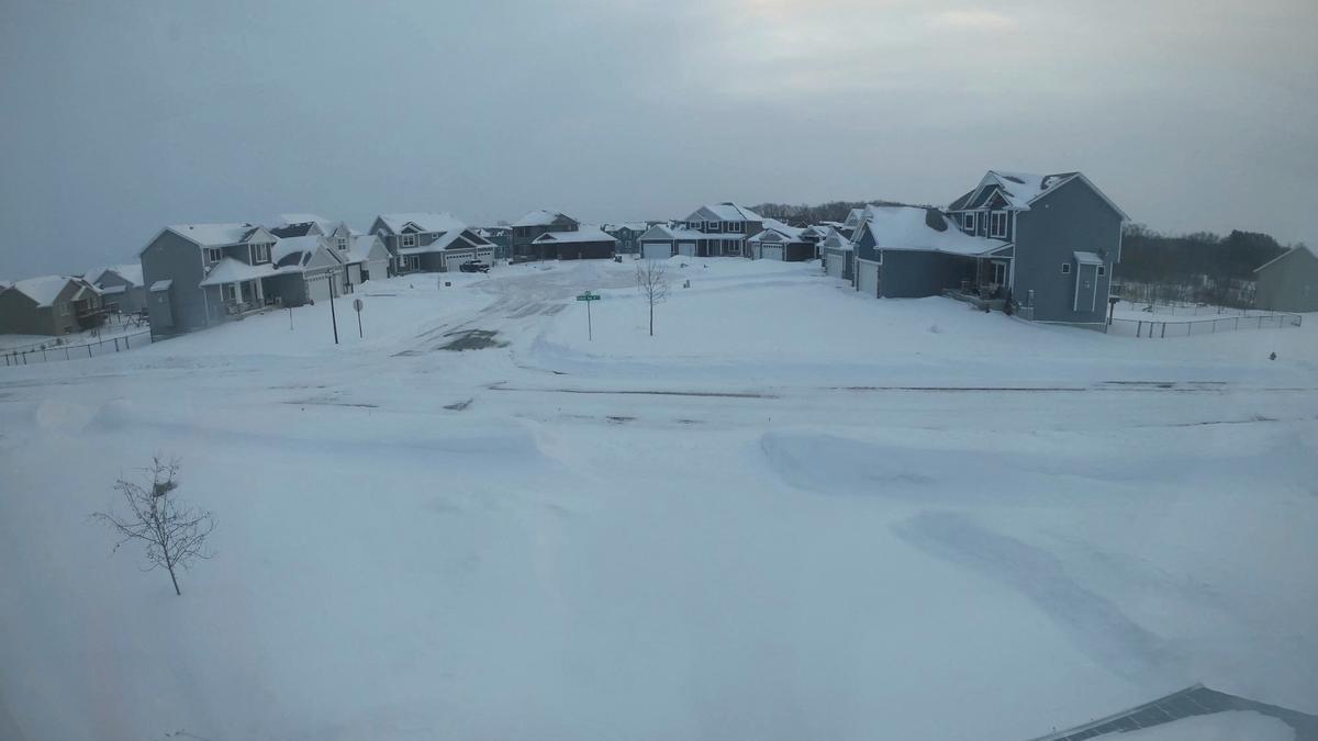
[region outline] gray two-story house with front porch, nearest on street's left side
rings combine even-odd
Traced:
[[[138,253],[152,335],[190,332],[261,310],[277,241],[250,223],[165,227]]]

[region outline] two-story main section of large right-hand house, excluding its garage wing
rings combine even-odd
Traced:
[[[1106,323],[1128,218],[1082,173],[990,170],[948,214],[963,233],[1003,245],[979,262],[981,293],[996,285],[1027,319]]]

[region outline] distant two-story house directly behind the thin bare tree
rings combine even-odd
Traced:
[[[776,222],[768,220],[770,224]],[[672,224],[656,224],[641,235],[646,260],[673,254],[724,257],[746,254],[746,239],[764,231],[766,219],[733,202],[710,203]],[[786,227],[786,224],[783,224]]]

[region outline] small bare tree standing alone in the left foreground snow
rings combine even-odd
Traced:
[[[178,468],[178,459],[165,463],[158,456],[153,458],[152,467],[145,469],[150,477],[146,487],[124,479],[115,481],[115,490],[123,494],[128,514],[98,512],[91,518],[120,535],[116,551],[124,543],[141,541],[146,548],[142,571],[165,568],[174,583],[174,593],[182,596],[178,570],[187,570],[195,559],[215,555],[206,547],[207,535],[215,530],[215,517],[174,498]]]

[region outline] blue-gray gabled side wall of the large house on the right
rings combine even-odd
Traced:
[[[1027,306],[1033,290],[1033,319],[1101,324],[1107,315],[1114,262],[1122,240],[1122,215],[1082,179],[1072,179],[1016,215],[1016,266],[1012,298]],[[1075,252],[1103,258],[1104,276],[1097,278],[1094,310],[1087,302],[1077,311],[1075,281],[1081,270]],[[1070,272],[1061,272],[1062,264]]]

